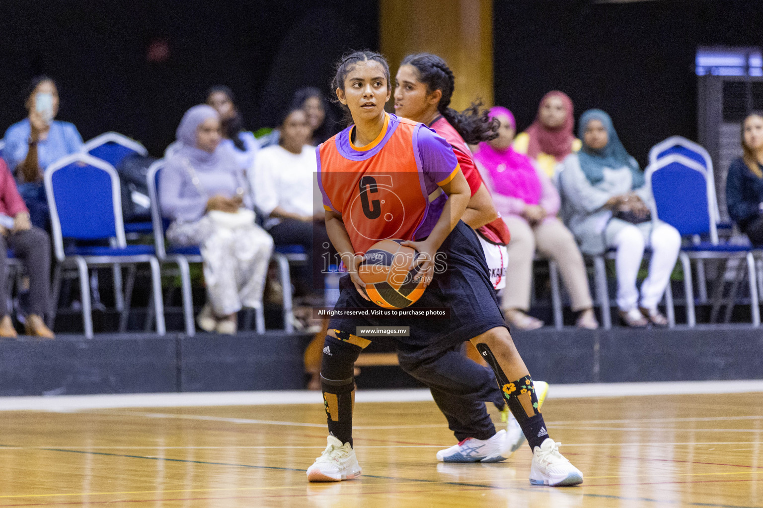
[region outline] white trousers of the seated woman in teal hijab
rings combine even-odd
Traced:
[[[681,250],[681,235],[678,234],[678,230],[665,222],[655,228],[626,225],[610,241],[610,247],[617,249],[617,306],[623,311],[629,311],[639,305],[636,277],[639,275],[644,249],[651,249],[649,276],[641,284],[640,305],[644,308],[656,308],[670,282],[678,251]]]

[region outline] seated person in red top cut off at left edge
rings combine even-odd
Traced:
[[[24,323],[27,335],[52,339],[45,326],[50,309],[50,237],[32,225],[16,182],[0,159],[0,337],[16,337],[8,308],[8,248],[24,262],[29,273],[29,305],[31,313]]]

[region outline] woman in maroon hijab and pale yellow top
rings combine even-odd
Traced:
[[[514,139],[514,150],[530,156],[549,178],[554,177],[556,166],[581,147],[580,139],[572,134],[573,113],[567,94],[549,91],[540,101],[535,121]]]

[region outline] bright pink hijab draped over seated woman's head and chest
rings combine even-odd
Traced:
[[[517,129],[517,122],[510,110],[501,106],[491,107],[490,117],[497,115],[508,117],[513,129]],[[529,157],[514,152],[511,145],[499,151],[487,142],[479,144],[474,156],[488,171],[494,192],[523,200],[528,205],[539,203],[542,184]]]

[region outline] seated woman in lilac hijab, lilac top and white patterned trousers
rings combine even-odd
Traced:
[[[194,106],[177,130],[179,149],[159,177],[167,239],[198,245],[204,258],[207,304],[197,321],[204,331],[235,334],[237,312],[262,306],[273,241],[254,223],[249,184],[230,150],[221,146],[220,116]]]

